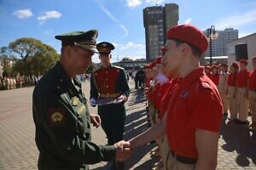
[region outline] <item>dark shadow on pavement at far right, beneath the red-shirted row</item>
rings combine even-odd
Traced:
[[[251,135],[245,125],[226,122],[224,117],[220,133],[226,142],[222,148],[229,152],[237,152],[236,163],[239,166],[248,167],[249,159],[256,163],[256,132]]]

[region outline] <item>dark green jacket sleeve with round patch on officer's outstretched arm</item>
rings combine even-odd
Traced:
[[[43,133],[44,149],[47,152],[73,163],[93,164],[114,160],[115,148],[112,145],[103,146],[90,142],[89,120],[76,117],[68,106],[60,99],[55,99],[55,96],[47,95],[44,99],[39,99],[42,97],[33,99],[33,113],[36,122],[43,125],[43,129],[39,129],[41,132],[38,133]],[[58,114],[61,119],[55,122],[54,116]],[[84,131],[77,130],[77,123],[81,123],[77,122],[77,119],[82,118],[85,122],[83,126],[88,126]]]

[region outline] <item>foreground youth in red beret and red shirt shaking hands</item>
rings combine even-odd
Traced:
[[[216,169],[218,131],[223,107],[218,89],[199,63],[207,37],[195,26],[172,26],[167,31],[166,65],[181,80],[173,89],[161,122],[130,140],[135,149],[167,134],[171,151],[167,169]]]

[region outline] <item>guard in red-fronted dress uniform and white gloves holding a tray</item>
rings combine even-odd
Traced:
[[[108,144],[114,144],[123,139],[125,129],[125,101],[130,88],[125,78],[123,68],[111,65],[111,50],[113,44],[100,42],[96,45],[101,59],[101,67],[92,73],[90,80],[90,105],[96,105],[96,99],[119,99],[120,103],[98,105],[98,114],[102,118],[102,128],[107,135]],[[122,162],[117,163],[117,169],[123,169]]]

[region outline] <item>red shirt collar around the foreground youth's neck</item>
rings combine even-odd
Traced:
[[[191,71],[186,77],[183,77],[180,81],[178,81],[180,88],[186,89],[189,85],[194,82],[197,78],[204,75],[204,68],[198,67],[194,71]]]

